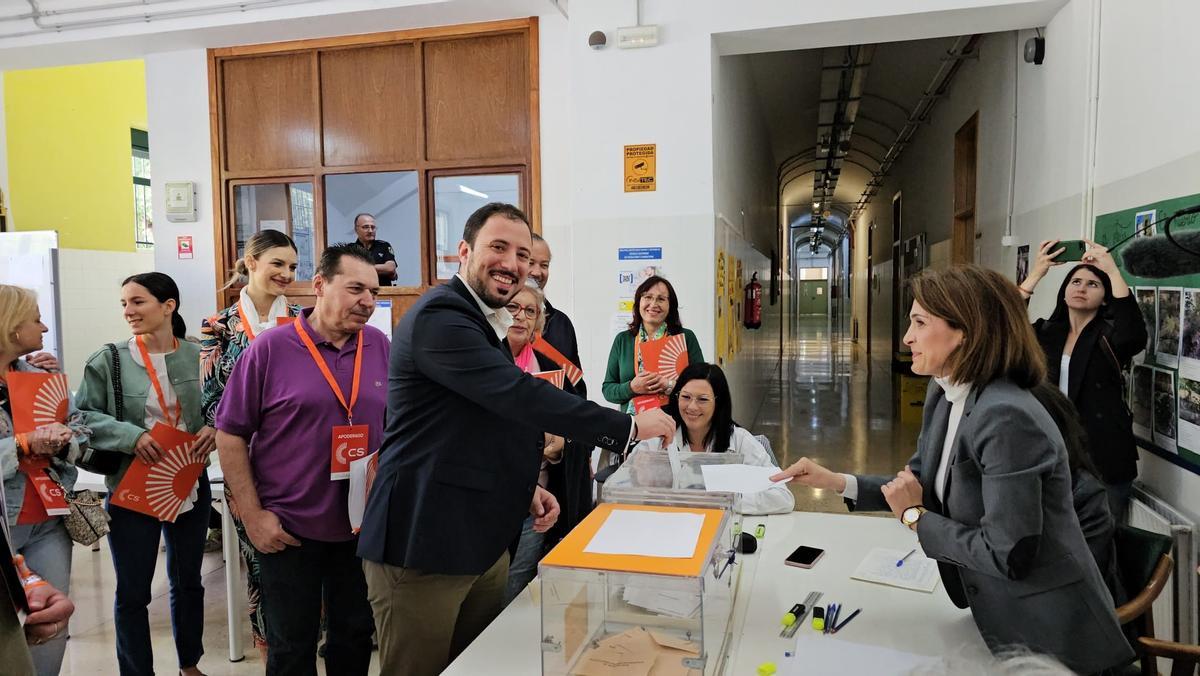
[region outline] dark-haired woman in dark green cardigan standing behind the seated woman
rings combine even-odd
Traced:
[[[688,343],[688,363],[702,363],[704,354],[700,351],[696,334],[679,322],[679,297],[674,287],[658,275],[647,279],[634,294],[634,318],[629,322],[629,330],[617,334],[608,351],[608,369],[601,385],[604,397],[634,413],[634,397],[670,393],[674,388],[674,378],[646,371],[638,346],[679,334]]]

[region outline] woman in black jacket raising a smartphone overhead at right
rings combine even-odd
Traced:
[[[1146,321],[1138,300],[1121,276],[1109,250],[1094,241],[1082,263],[1063,280],[1048,319],[1033,323],[1046,357],[1046,378],[1058,385],[1079,411],[1087,432],[1085,448],[1099,471],[1109,497],[1109,512],[1117,524],[1124,520],[1138,477],[1138,445],[1133,418],[1124,403],[1124,372],[1133,357],[1146,348]],[[1030,276],[1018,287],[1026,299],[1064,246],[1043,241]]]

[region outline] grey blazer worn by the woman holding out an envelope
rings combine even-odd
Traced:
[[[1112,597],[1092,558],[1072,501],[1067,450],[1028,390],[997,379],[964,402],[944,504],[934,477],[950,403],[930,382],[917,453],[908,465],[929,509],[917,525],[938,562],[946,592],[971,608],[992,651],[1026,646],[1080,674],[1128,662]],[[857,477],[857,509],[888,509],[892,477]]]

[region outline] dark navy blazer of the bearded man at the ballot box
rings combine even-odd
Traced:
[[[480,575],[529,514],[542,431],[623,449],[630,427],[629,415],[522,373],[455,277],[392,334],[388,429],[359,556]]]

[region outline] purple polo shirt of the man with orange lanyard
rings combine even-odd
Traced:
[[[312,330],[310,315],[312,309],[305,309],[300,322],[349,402],[358,337],[338,349]],[[354,424],[370,427],[373,453],[383,441],[388,408],[389,346],[373,327],[362,329],[362,341]],[[337,425],[346,425],[346,409],[290,324],[263,331],[250,343],[234,364],[216,414],[216,429],[248,439],[263,508],[275,513],[287,532],[322,542],[354,539],[346,507],[350,481],[329,478]]]

